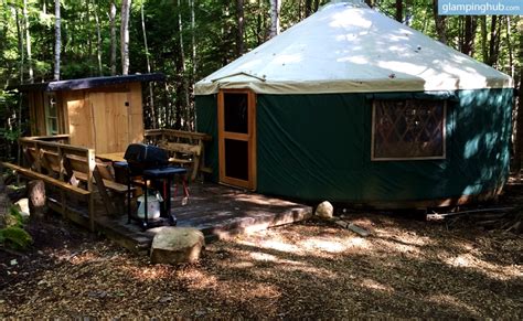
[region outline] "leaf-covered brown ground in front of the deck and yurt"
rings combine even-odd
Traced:
[[[200,263],[150,265],[58,218],[34,249],[0,252],[0,318],[523,318],[523,238],[467,221],[346,214],[217,242]]]

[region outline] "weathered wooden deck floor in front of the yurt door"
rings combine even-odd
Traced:
[[[178,218],[177,226],[199,228],[207,243],[302,221],[312,214],[312,208],[307,205],[212,183],[195,182],[189,190],[185,205],[182,205],[180,191],[180,195],[171,201],[171,213]],[[128,224],[126,215],[102,216],[96,218],[96,225],[108,238],[140,253],[149,250],[154,234],[161,228],[143,232],[136,222]]]

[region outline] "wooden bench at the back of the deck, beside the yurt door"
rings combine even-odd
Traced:
[[[211,136],[174,129],[150,129],[146,130],[145,137],[146,142],[166,149],[171,162],[191,167],[191,181],[194,181],[200,172],[212,173],[212,169],[204,164],[205,142],[212,140]]]

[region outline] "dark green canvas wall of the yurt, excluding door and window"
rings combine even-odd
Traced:
[[[371,161],[372,96],[257,96],[257,191],[301,200],[375,203],[476,195],[506,180],[512,89],[423,94],[448,99],[445,160]],[[447,96],[446,96],[447,95]],[[216,96],[196,97],[198,130],[216,137]]]

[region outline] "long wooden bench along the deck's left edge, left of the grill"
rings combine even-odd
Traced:
[[[89,227],[95,228],[94,189],[103,199],[107,214],[115,214],[124,208],[127,185],[114,181],[108,164],[96,161],[93,149],[42,141],[33,138],[21,138],[20,146],[25,157],[26,167],[4,164],[19,174],[32,179],[42,179],[62,191],[62,215],[71,212],[66,206],[65,193],[83,195],[87,199]],[[79,192],[83,191],[83,192]],[[116,195],[111,197],[109,193]],[[116,202],[114,202],[116,201]]]

